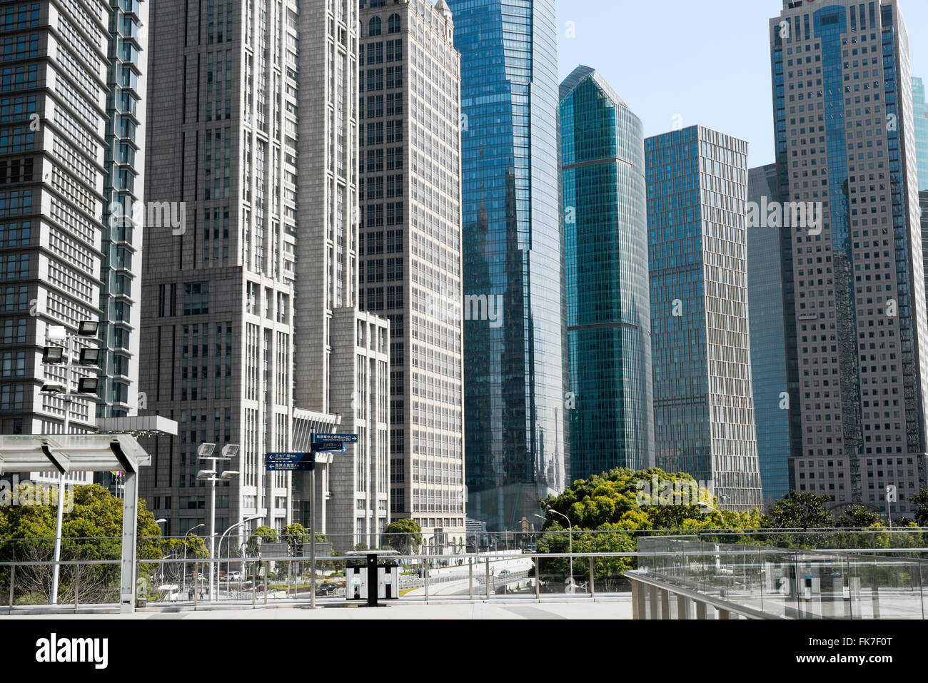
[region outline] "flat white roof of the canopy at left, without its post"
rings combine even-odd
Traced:
[[[12,471],[137,472],[151,457],[130,434],[0,436],[0,474]]]

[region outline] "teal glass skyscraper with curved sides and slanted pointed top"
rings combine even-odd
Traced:
[[[641,121],[597,71],[561,84],[571,476],[654,465]]]

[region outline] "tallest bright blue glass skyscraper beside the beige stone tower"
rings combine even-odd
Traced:
[[[493,531],[535,522],[567,482],[557,29],[554,0],[447,4],[461,53],[467,509]]]

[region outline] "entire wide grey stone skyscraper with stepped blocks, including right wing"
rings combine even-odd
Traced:
[[[375,543],[389,325],[356,307],[356,6],[151,14],[148,195],[185,225],[149,230],[145,249],[140,383],[180,436],[149,446],[142,495],[183,534],[210,517],[198,447],[237,444],[219,531],[255,514],[252,529],[305,525],[308,477],[265,473],[264,454],[308,450],[310,429],[340,420],[358,444],[316,477],[316,528],[340,547]]]

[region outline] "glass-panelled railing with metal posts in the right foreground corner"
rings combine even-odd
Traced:
[[[639,618],[690,618],[693,600],[750,618],[924,619],[928,560],[850,551],[710,543],[692,537],[638,540]],[[640,592],[640,594],[639,594]],[[728,618],[728,617],[726,617]]]

